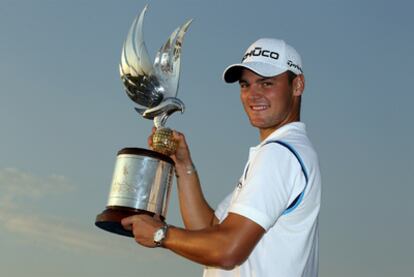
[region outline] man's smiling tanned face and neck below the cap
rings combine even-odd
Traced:
[[[244,110],[250,123],[259,128],[261,140],[281,126],[300,120],[303,75],[290,83],[287,72],[265,78],[243,69],[239,83]]]

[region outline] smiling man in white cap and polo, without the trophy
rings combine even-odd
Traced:
[[[258,128],[238,186],[213,211],[185,137],[172,156],[185,229],[137,215],[122,224],[144,246],[162,246],[206,266],[204,276],[317,276],[320,173],[300,122],[302,62],[283,40],[259,39],[224,72]],[[151,144],[151,143],[150,143]]]

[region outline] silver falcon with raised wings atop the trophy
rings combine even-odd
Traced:
[[[127,95],[138,104],[135,110],[144,118],[153,119],[156,128],[162,128],[172,113],[184,112],[184,103],[177,98],[177,92],[181,47],[192,19],[172,32],[151,64],[143,36],[147,8],[145,6],[129,30],[119,70]]]

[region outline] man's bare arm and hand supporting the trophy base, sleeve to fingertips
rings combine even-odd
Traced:
[[[124,218],[121,223],[132,231],[137,243],[146,247],[156,246],[154,235],[165,224],[145,214]],[[162,246],[194,262],[231,269],[247,259],[264,231],[254,221],[229,213],[220,224],[201,230],[170,226]]]

